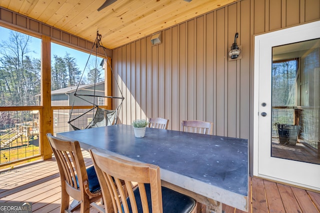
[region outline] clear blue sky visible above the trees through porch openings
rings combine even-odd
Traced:
[[[3,41],[5,42],[9,39],[10,31],[11,31],[10,29],[0,26],[0,43],[2,43]],[[31,53],[29,54],[31,57],[41,58],[41,39],[40,38],[32,37],[31,43],[28,46],[28,48],[29,50],[31,50]],[[71,55],[71,57],[75,58],[76,64],[78,65],[78,68],[82,74],[82,71],[85,68],[86,61],[88,60],[89,54],[69,48],[69,47],[65,47],[59,44],[51,43],[51,61],[53,61],[52,59],[53,55],[58,55],[60,57],[63,57],[66,52],[68,52]],[[101,60],[102,58],[98,58],[97,62],[100,63]],[[94,53],[93,55],[91,54],[89,61],[95,61]],[[84,75],[86,75],[86,72]],[[101,77],[104,77],[103,72],[101,72]]]

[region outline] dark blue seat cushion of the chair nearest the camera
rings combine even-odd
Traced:
[[[151,213],[151,194],[150,185],[144,184],[146,198],[148,200],[149,212]],[[162,207],[163,213],[189,213],[192,211],[195,205],[194,199],[170,190],[165,187],[161,187],[162,190]],[[142,213],[142,204],[139,195],[139,189],[134,190],[134,197],[136,200],[136,206],[139,213]],[[126,199],[129,207],[129,212],[131,213],[131,205],[129,198]]]

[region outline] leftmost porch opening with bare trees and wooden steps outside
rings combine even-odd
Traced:
[[[5,168],[41,153],[41,40],[1,26],[0,34],[0,164]]]

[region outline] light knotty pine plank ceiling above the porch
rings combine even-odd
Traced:
[[[97,11],[105,2],[110,5]],[[236,0],[0,0],[0,6],[113,49]]]

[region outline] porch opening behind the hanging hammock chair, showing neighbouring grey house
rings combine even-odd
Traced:
[[[101,61],[95,55],[51,42],[51,105],[69,107],[54,111],[60,122],[54,126],[53,133],[74,127],[84,129],[92,121],[93,111],[83,115],[87,109],[71,110],[71,106],[92,106],[98,102],[97,97],[74,96],[75,91],[80,95],[104,95]]]

